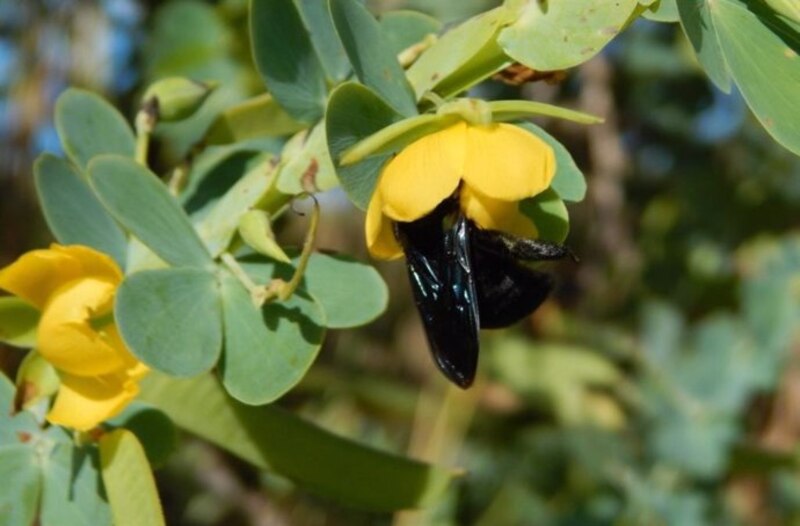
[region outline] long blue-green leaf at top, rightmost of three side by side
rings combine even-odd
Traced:
[[[357,0],[328,0],[328,5],[356,77],[399,114],[416,115],[414,93],[378,21]]]

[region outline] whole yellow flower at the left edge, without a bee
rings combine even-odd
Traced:
[[[121,281],[111,258],[80,245],[53,244],[0,270],[0,289],[41,311],[37,349],[61,380],[47,415],[53,424],[89,430],[139,392],[148,369],[122,343],[112,317]]]

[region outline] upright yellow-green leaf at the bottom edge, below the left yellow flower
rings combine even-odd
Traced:
[[[166,525],[153,473],[136,435],[124,429],[104,435],[100,464],[116,526]]]

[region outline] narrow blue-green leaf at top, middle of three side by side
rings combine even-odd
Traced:
[[[308,28],[311,43],[325,69],[328,79],[338,84],[350,74],[350,61],[333,26],[328,2],[325,0],[295,0]]]

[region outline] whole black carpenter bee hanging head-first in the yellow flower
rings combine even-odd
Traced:
[[[521,320],[553,288],[548,274],[525,263],[574,258],[563,245],[481,229],[457,196],[416,221],[395,223],[395,236],[433,358],[462,388],[475,379],[478,331]]]

